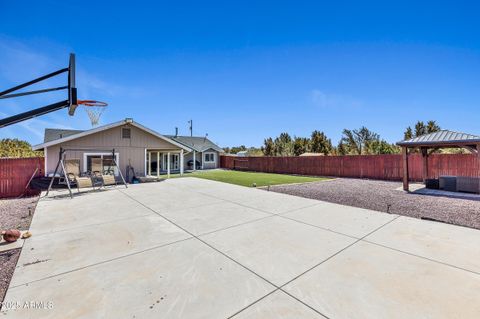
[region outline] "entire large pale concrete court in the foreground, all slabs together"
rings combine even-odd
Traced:
[[[478,318],[480,231],[196,178],[43,198],[2,318]]]

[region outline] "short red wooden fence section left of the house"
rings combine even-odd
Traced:
[[[37,168],[35,177],[43,176],[43,157],[0,158],[0,198],[38,194],[38,191],[26,189]]]

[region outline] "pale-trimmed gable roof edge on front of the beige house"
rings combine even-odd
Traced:
[[[148,133],[160,138],[160,139],[163,139],[163,140],[165,140],[165,141],[167,141],[167,142],[169,142],[173,145],[176,145],[176,146],[178,146],[178,147],[180,147],[180,148],[182,148],[182,149],[184,149],[188,152],[191,151],[191,149],[189,147],[186,147],[184,144],[179,143],[177,141],[174,141],[173,139],[170,139],[170,138],[168,138],[168,137],[166,137],[166,136],[164,136],[160,133],[157,133],[154,130],[149,129],[148,127],[145,127],[145,126],[143,126],[143,125],[141,125],[137,122],[134,122],[132,119],[121,120],[121,121],[118,121],[118,122],[115,122],[115,123],[99,126],[99,127],[96,127],[96,128],[90,129],[90,130],[86,130],[86,131],[80,131],[79,130],[75,134],[70,134],[68,136],[63,136],[63,137],[60,137],[58,139],[46,141],[42,144],[35,145],[32,148],[33,148],[33,150],[40,150],[40,149],[43,149],[45,147],[50,147],[50,146],[53,146],[53,145],[65,143],[65,142],[75,140],[75,139],[80,138],[80,137],[84,137],[84,136],[95,134],[95,133],[98,133],[98,132],[101,132],[101,131],[109,130],[111,128],[115,128],[115,127],[122,126],[122,125],[125,125],[125,124],[130,124],[132,126],[135,126],[139,129],[145,131],[145,132],[148,132]],[[45,130],[45,133],[46,133],[46,130]],[[53,134],[51,136],[53,136]],[[46,140],[46,137],[45,137],[45,140]]]

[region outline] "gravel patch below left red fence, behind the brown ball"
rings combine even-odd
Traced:
[[[38,196],[0,200],[0,229],[27,230],[32,222]]]

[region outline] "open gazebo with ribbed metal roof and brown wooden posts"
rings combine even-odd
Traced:
[[[428,156],[440,148],[465,148],[477,154],[480,160],[480,136],[467,133],[441,130],[398,142],[397,145],[402,147],[403,189],[406,191],[408,191],[409,150],[419,149],[422,154],[424,182],[428,176]]]

